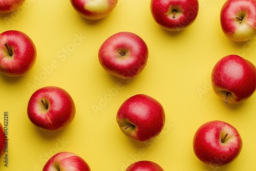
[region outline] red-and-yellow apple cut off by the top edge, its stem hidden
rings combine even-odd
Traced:
[[[109,15],[118,0],[70,0],[71,5],[82,17],[96,20]]]

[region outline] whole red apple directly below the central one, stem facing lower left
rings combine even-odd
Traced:
[[[165,123],[165,113],[163,106],[156,99],[137,94],[121,104],[116,121],[127,137],[147,141],[161,133]]]

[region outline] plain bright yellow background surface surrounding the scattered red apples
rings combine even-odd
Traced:
[[[138,160],[157,162],[167,171],[255,170],[256,95],[230,105],[210,87],[220,58],[238,54],[256,63],[256,38],[233,42],[223,34],[224,2],[200,0],[195,23],[180,32],[155,23],[149,0],[119,0],[110,15],[96,21],[80,17],[68,0],[27,0],[17,11],[0,14],[0,32],[23,31],[37,48],[36,63],[25,76],[0,75],[1,123],[9,112],[8,168],[1,158],[0,170],[41,170],[62,151],[80,155],[92,170],[121,171]],[[102,42],[120,31],[138,34],[149,50],[145,69],[129,81],[106,73],[98,62]],[[65,130],[40,131],[27,117],[30,96],[45,86],[61,87],[75,101],[75,119]],[[163,132],[148,142],[130,140],[116,123],[121,103],[138,93],[157,99],[166,114]],[[243,139],[240,156],[225,168],[209,168],[193,152],[196,130],[210,120],[230,123]]]

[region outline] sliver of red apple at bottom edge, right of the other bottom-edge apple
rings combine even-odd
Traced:
[[[153,161],[137,161],[126,168],[125,171],[164,171],[163,168]]]

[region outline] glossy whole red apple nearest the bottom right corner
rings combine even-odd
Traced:
[[[227,137],[221,142],[225,134]],[[242,138],[229,123],[214,120],[204,123],[195,133],[195,155],[210,167],[222,167],[233,162],[240,154]]]

